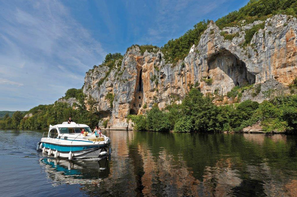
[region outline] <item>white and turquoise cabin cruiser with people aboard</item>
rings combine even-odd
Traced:
[[[82,134],[81,132],[85,130]],[[37,143],[37,150],[56,158],[97,158],[111,153],[110,139],[105,135],[96,137],[88,125],[63,122],[50,125],[47,136]]]

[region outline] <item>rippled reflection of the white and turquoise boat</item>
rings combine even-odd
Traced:
[[[107,156],[88,160],[59,160],[56,158],[41,158],[43,167],[53,185],[85,184],[108,177],[109,165]]]

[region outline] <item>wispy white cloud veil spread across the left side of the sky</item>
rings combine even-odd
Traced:
[[[0,110],[53,103],[65,87],[80,88],[85,72],[106,55],[60,1],[2,1],[0,7],[0,91],[7,92]]]

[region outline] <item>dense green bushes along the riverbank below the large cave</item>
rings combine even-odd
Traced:
[[[247,86],[246,86],[247,87]],[[240,87],[231,91],[235,97]],[[251,100],[235,105],[216,106],[212,97],[192,88],[180,105],[159,110],[157,105],[141,118],[133,116],[135,129],[174,132],[241,132],[244,127],[260,124],[264,132],[296,132],[297,95],[274,97],[259,104]]]

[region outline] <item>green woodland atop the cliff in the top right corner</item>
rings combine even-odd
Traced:
[[[219,18],[216,24],[219,28],[233,27],[240,25],[238,22],[246,20],[245,24],[255,20],[266,20],[275,14],[297,14],[296,0],[250,0],[249,3],[238,11],[230,12],[228,15]]]

